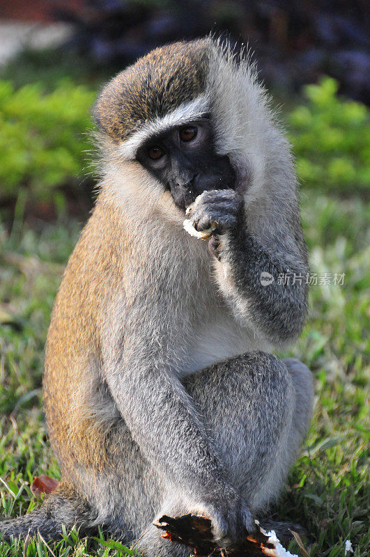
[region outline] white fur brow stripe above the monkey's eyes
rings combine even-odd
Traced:
[[[136,157],[137,150],[149,137],[162,134],[169,130],[169,128],[185,124],[196,118],[204,116],[208,112],[208,102],[206,95],[196,98],[192,102],[180,104],[180,107],[174,111],[166,114],[166,116],[157,117],[152,122],[143,125],[136,133],[130,136],[129,139],[122,141],[119,146],[121,155],[128,159]]]

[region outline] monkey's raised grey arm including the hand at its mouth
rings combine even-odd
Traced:
[[[272,343],[298,336],[307,313],[308,265],[304,250],[295,246],[301,262],[294,268],[282,257],[273,256],[249,232],[244,201],[233,190],[204,192],[190,218],[198,230],[209,228],[212,221],[218,223],[219,234],[211,238],[210,250],[221,264],[217,281],[238,320],[252,321],[259,334]],[[284,234],[282,230],[283,238]],[[288,256],[288,240],[284,249]],[[265,273],[265,277],[272,276],[269,283],[264,280]]]

